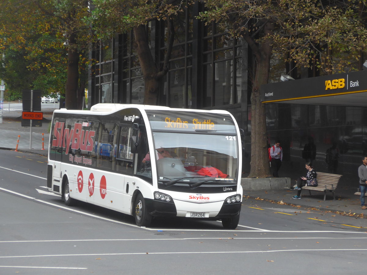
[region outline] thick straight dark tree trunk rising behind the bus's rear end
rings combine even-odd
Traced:
[[[75,34],[69,36],[68,46],[68,78],[65,88],[65,108],[77,109],[77,91],[79,80],[79,53],[77,51]]]

